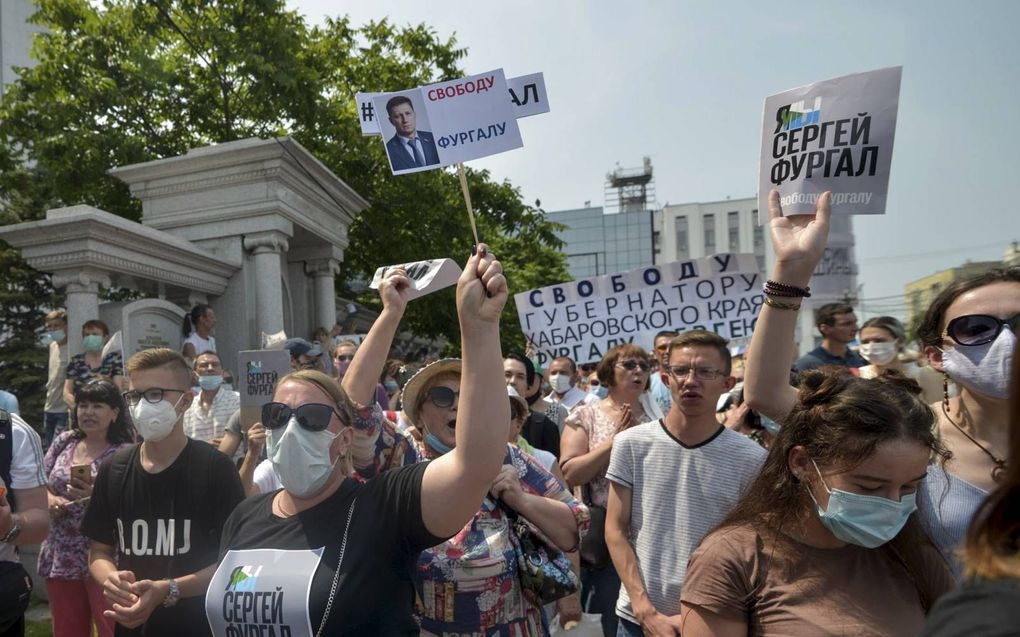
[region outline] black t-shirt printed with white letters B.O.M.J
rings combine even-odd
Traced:
[[[234,463],[207,442],[189,439],[173,463],[152,474],[141,444],[119,449],[99,469],[82,533],[114,546],[117,568],[137,581],[178,578],[219,558],[227,517],[244,499]],[[118,635],[185,635],[205,624],[201,596],[159,606],[141,631]]]

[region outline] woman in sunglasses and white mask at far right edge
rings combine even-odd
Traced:
[[[938,435],[952,452],[946,471],[929,472],[921,518],[959,575],[958,552],[974,512],[1006,472],[1009,373],[1020,323],[1020,267],[953,283],[931,303],[918,338],[944,375]],[[959,395],[950,397],[949,380]]]

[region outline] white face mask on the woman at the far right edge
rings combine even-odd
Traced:
[[[961,385],[993,399],[1010,394],[1010,369],[1017,337],[1004,329],[983,346],[956,346],[942,351],[942,367]]]

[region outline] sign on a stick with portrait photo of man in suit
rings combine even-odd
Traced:
[[[503,69],[377,96],[394,174],[434,170],[523,146]]]

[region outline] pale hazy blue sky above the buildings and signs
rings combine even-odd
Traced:
[[[469,73],[545,72],[524,148],[471,165],[546,210],[601,205],[606,172],[646,155],[660,205],[754,196],[765,96],[903,65],[887,214],[855,218],[863,297],[900,314],[883,298],[907,281],[1020,241],[1020,2],[289,4],[456,34]]]

